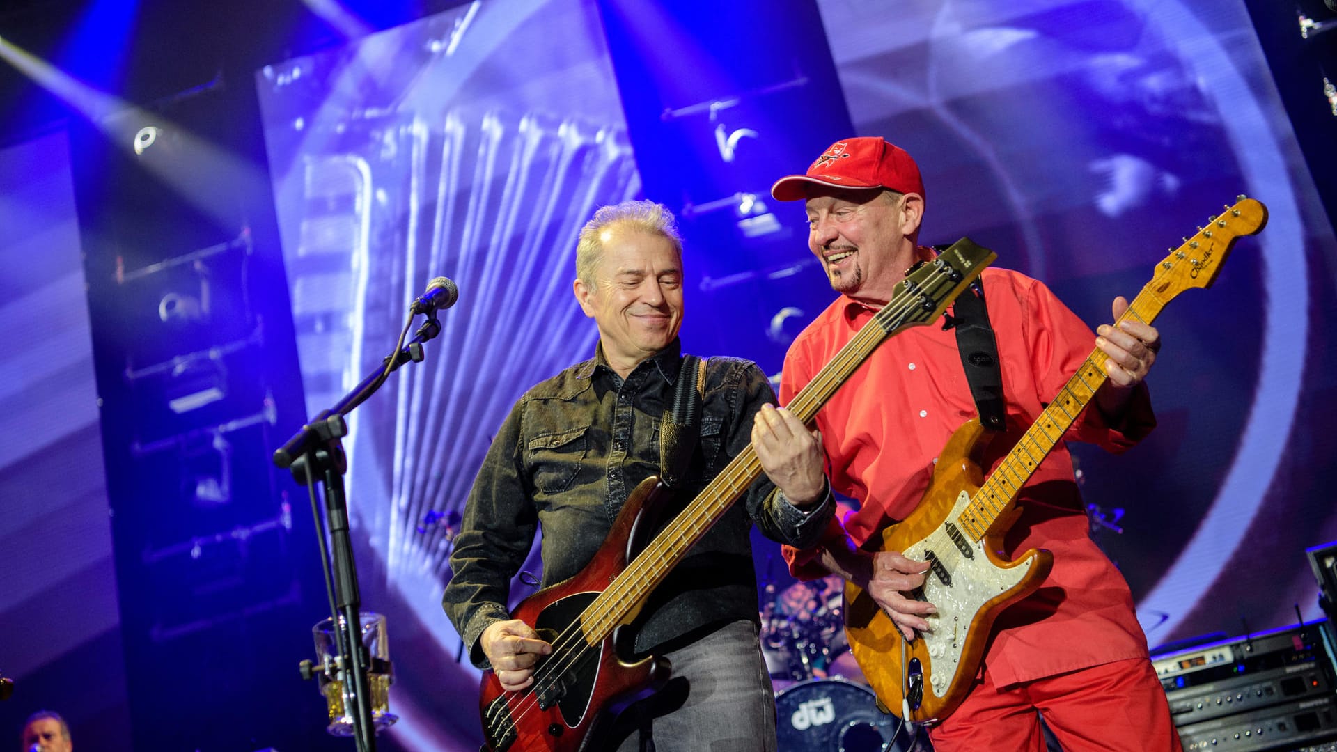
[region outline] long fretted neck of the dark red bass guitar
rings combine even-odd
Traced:
[[[976,246],[977,248],[977,246]],[[979,249],[984,252],[984,249]],[[988,253],[988,252],[984,252]],[[988,261],[992,261],[988,253]],[[965,274],[925,276],[923,286],[909,284],[900,289],[892,301],[877,312],[872,321],[864,325],[850,341],[828,363],[813,380],[794,396],[787,409],[796,417],[810,426],[817,411],[840,389],[854,369],[892,333],[910,324],[932,321],[945,304],[925,306],[925,300],[952,300],[976,277],[985,264]],[[626,621],[635,609],[678,565],[697,541],[734,500],[761,475],[761,460],[749,444],[730,462],[714,480],[685,508],[674,521],[646,546],[614,582],[580,616],[586,640],[590,644],[603,641],[612,630]]]

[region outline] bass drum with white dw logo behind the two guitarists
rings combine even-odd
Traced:
[[[877,709],[872,689],[840,680],[805,681],[775,697],[781,752],[912,752],[901,720]],[[923,735],[928,736],[928,735]]]

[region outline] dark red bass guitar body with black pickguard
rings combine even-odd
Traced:
[[[501,689],[484,672],[479,711],[484,749],[491,752],[576,752],[596,748],[616,711],[652,693],[668,680],[668,661],[647,657],[624,662],[618,657],[623,630],[591,640],[582,614],[626,569],[628,543],[635,546],[642,518],[655,516],[668,491],[650,478],[632,491],[614,521],[603,546],[574,578],[529,595],[512,612],[552,644],[552,653],[535,668],[535,681],[519,692]],[[643,514],[644,512],[644,514]],[[639,609],[638,609],[639,610]],[[631,612],[626,621],[635,618]],[[630,645],[626,645],[630,649]]]

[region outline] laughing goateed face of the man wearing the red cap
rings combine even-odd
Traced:
[[[829,189],[806,202],[808,248],[832,289],[884,304],[917,258],[924,199],[919,194]]]

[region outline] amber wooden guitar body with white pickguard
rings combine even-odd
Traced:
[[[945,717],[965,698],[999,612],[1034,593],[1054,563],[1050,551],[1028,550],[1013,561],[997,553],[1013,514],[1001,514],[987,534],[968,533],[971,499],[983,484],[976,458],[987,446],[984,428],[971,420],[956,430],[939,456],[920,506],[882,533],[878,550],[931,562],[916,593],[937,606],[931,629],[904,642],[890,617],[866,590],[845,585],[845,633],[869,685],[882,705],[908,720]],[[902,650],[904,648],[904,650]]]

